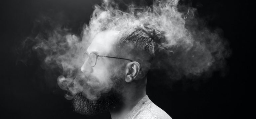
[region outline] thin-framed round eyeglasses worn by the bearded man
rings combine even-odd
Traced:
[[[97,55],[97,54],[95,54],[95,53],[90,53],[90,55],[88,55],[87,53],[84,53],[84,54],[83,54],[84,60],[87,60],[87,58],[88,58],[88,63],[90,64],[91,67],[93,67],[93,66],[96,65],[98,57],[115,58],[115,59],[123,59],[123,60],[133,61],[133,60],[130,60],[130,59],[125,59],[125,58],[116,58],[116,57],[109,57],[109,56],[101,56],[101,55]]]

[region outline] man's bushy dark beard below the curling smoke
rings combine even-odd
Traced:
[[[113,89],[108,93],[101,94],[98,100],[87,99],[82,93],[78,93],[73,101],[75,111],[82,115],[93,115],[114,110],[120,105],[121,95]]]

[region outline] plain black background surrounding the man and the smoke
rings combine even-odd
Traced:
[[[161,79],[148,80],[150,99],[173,119],[248,118],[253,110],[255,48],[255,7],[249,1],[192,0],[198,17],[209,28],[220,28],[229,41],[232,55],[225,75],[218,71],[211,78],[178,80],[160,85]],[[109,113],[85,117],[73,112],[70,100],[58,85],[57,75],[41,68],[36,53],[28,64],[17,61],[16,47],[30,36],[34,20],[42,13],[65,14],[72,32],[88,23],[94,4],[100,0],[13,0],[1,1],[1,114],[3,118],[110,118]],[[128,2],[127,2],[128,3]],[[135,2],[139,3],[139,2]],[[151,4],[152,2],[146,2]],[[47,77],[49,75],[52,77]],[[158,83],[156,83],[158,82]],[[160,83],[159,83],[160,82]]]

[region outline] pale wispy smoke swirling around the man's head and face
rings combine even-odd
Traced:
[[[155,1],[149,7],[129,5],[126,11],[121,11],[113,1],[104,0],[101,6],[94,8],[90,22],[83,26],[80,36],[72,34],[60,23],[44,18],[38,23],[47,21],[50,28],[24,42],[24,46],[31,41],[35,43],[33,50],[44,58],[44,67],[63,70],[58,84],[68,91],[67,99],[82,92],[95,100],[112,87],[113,82],[96,82],[93,89],[96,92],[92,93],[92,87],[86,83],[88,78],[80,71],[83,53],[102,30],[117,30],[127,36],[138,26],[147,26],[163,32],[165,42],[155,44],[157,48],[151,68],[165,69],[170,80],[217,70],[225,65],[225,58],[229,56],[227,42],[196,19],[195,8],[180,5],[179,0]]]

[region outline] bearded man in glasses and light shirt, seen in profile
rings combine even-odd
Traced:
[[[157,35],[156,30],[145,26],[137,27],[127,36],[116,30],[96,34],[85,53],[81,71],[89,75],[87,83],[91,87],[92,82],[112,82],[113,88],[96,100],[93,96],[78,95],[74,99],[78,113],[86,115],[108,109],[112,119],[171,119],[146,95],[147,72],[156,40],[151,34]]]

